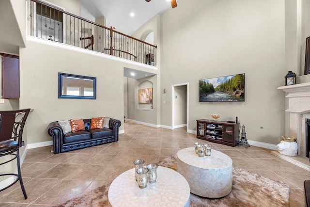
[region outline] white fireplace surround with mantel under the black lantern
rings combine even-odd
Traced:
[[[297,138],[297,155],[309,157],[306,122],[310,119],[310,83],[280,86],[278,90],[286,92],[285,97],[288,98],[288,109],[285,112],[290,115],[289,136]]]

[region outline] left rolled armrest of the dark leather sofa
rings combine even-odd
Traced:
[[[58,122],[52,122],[47,127],[47,133],[49,136],[53,137],[53,150],[55,154],[60,153],[60,146],[63,141],[63,131],[62,127],[58,124]]]

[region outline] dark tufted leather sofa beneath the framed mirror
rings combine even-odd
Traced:
[[[82,149],[99,144],[118,141],[121,121],[110,118],[109,128],[90,129],[92,119],[83,119],[85,131],[76,131],[63,134],[58,122],[52,122],[47,127],[47,132],[53,137],[54,154]]]

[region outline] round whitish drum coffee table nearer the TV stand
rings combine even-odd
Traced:
[[[211,156],[199,157],[195,147],[177,153],[178,172],[183,175],[193,194],[220,198],[228,195],[233,186],[233,160],[212,149]]]

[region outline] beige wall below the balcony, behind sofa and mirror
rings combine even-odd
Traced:
[[[34,109],[27,121],[26,143],[51,141],[47,126],[57,120],[110,116],[123,123],[124,67],[141,70],[142,64],[111,60],[105,58],[109,55],[29,39],[27,48],[20,48],[20,108]],[[58,98],[58,72],[96,77],[97,99]],[[124,125],[120,130],[124,130]]]

